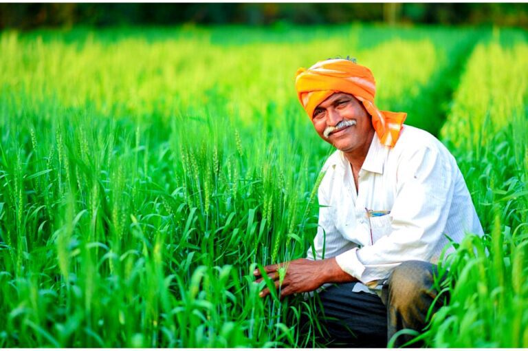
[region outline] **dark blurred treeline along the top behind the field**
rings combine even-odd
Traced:
[[[0,3],[0,29],[385,21],[528,28],[525,3]]]

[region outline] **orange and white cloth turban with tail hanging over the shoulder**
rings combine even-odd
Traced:
[[[355,96],[372,116],[372,125],[382,144],[389,147],[396,144],[407,114],[377,109],[374,105],[374,76],[367,67],[341,58],[320,61],[308,70],[297,70],[295,87],[299,101],[310,118],[316,107],[333,93]]]

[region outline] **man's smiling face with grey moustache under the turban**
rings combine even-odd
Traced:
[[[344,152],[368,149],[374,134],[371,116],[346,93],[335,93],[320,103],[311,122],[321,138]]]

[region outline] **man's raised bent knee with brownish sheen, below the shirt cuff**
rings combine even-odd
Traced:
[[[424,296],[434,299],[433,289],[437,267],[430,262],[407,261],[393,270],[388,279],[389,303],[396,308],[412,306]]]

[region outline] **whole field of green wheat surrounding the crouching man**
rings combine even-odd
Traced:
[[[347,55],[452,151],[485,230],[420,338],[527,348],[528,35],[374,25],[0,32],[0,347],[324,346],[316,302],[252,270],[309,250],[333,150],[294,74]]]

